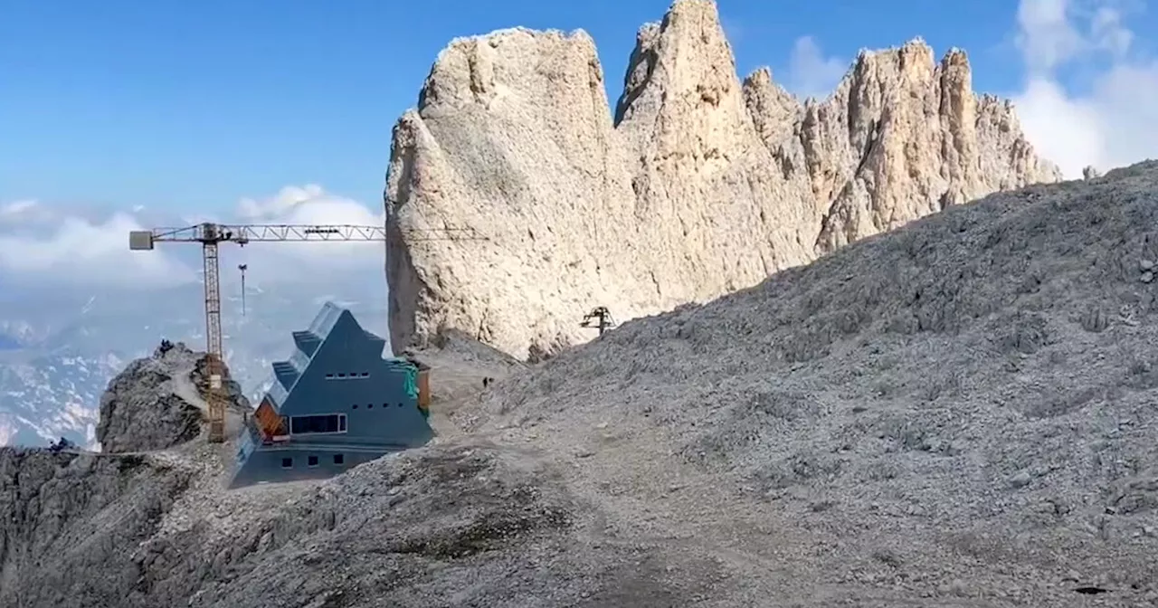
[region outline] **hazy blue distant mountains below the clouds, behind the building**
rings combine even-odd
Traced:
[[[222,281],[226,362],[251,397],[267,388],[272,361],[293,349],[331,300],[371,331],[386,331],[386,281],[338,272],[245,288]],[[13,292],[9,292],[13,293]],[[97,408],[110,379],[162,338],[205,349],[200,284],[157,290],[21,288],[0,300],[0,445],[44,445],[66,437],[94,445]]]

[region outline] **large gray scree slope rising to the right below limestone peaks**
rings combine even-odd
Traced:
[[[573,462],[629,527],[787,573],[768,598],[1158,606],[1155,259],[1158,162],[994,195],[626,323],[455,418]]]

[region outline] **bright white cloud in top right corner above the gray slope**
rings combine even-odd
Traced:
[[[1135,50],[1119,2],[1020,0],[1016,37],[1026,68],[1014,96],[1026,135],[1067,177],[1158,158],[1158,58]],[[1073,91],[1067,68],[1094,69]]]

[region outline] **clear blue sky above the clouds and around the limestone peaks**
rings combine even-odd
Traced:
[[[438,51],[521,24],[584,28],[617,95],[636,29],[668,0],[5,0],[0,202],[232,208],[290,184],[376,205],[390,127]],[[741,72],[917,35],[966,47],[982,90],[1019,80],[1016,2],[720,0]],[[613,100],[614,101],[614,100]]]

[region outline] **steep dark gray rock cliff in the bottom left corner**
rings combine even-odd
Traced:
[[[0,448],[0,606],[149,606],[132,596],[140,547],[193,471],[148,455]]]

